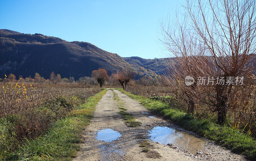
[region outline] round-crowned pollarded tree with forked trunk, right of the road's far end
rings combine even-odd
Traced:
[[[114,78],[118,81],[123,89],[126,88],[127,83],[134,77],[134,72],[131,68],[125,68],[122,71],[117,72],[114,74]]]

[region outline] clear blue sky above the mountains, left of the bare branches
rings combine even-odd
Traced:
[[[0,29],[90,42],[121,57],[164,57],[159,21],[178,0],[0,0]]]

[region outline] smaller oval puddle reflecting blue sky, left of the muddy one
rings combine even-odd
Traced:
[[[104,142],[111,142],[118,139],[120,136],[122,135],[115,130],[103,129],[97,132],[96,139]]]

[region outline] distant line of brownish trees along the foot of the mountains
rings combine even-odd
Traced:
[[[125,89],[127,84],[140,84],[143,86],[168,86],[169,78],[165,75],[151,77],[149,75],[144,75],[138,80],[134,80],[134,74],[132,68],[124,68],[123,70],[117,71],[116,73],[112,73],[110,76],[105,69],[98,69],[92,71],[91,77],[84,76],[80,77],[78,80],[75,80],[74,77],[69,78],[61,78],[60,74],[55,74],[52,72],[49,75],[49,79],[45,79],[40,76],[39,73],[35,73],[35,75],[28,76],[23,78],[22,75],[16,77],[14,74],[6,75],[5,78],[1,79],[0,82],[28,82],[28,83],[82,83],[82,84],[91,84],[97,85],[99,84],[102,87],[104,84],[108,85],[120,85]]]

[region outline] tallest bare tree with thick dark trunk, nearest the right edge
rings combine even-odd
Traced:
[[[194,43],[197,48],[194,49],[202,49],[203,55],[201,56],[208,57],[205,62],[209,68],[198,68],[197,66],[202,64],[200,60],[199,65],[197,63],[192,66],[192,69],[198,69],[199,75],[223,77],[225,80],[238,76],[250,77],[255,71],[255,1],[208,0],[203,2],[197,0],[195,2],[187,0],[184,9],[188,14],[183,14],[183,19],[186,24],[189,24],[187,29],[191,38],[185,37],[185,39],[179,40],[197,41],[198,43]],[[168,30],[169,27],[167,26],[164,31],[170,35],[175,34]],[[184,44],[190,43],[180,43],[177,47],[181,49]],[[172,44],[167,43],[166,45],[171,46]],[[189,45],[186,46],[189,47]],[[192,55],[196,54],[192,52]],[[201,57],[196,55],[196,58]],[[233,100],[239,97],[236,95],[239,88],[234,88],[233,83],[220,84],[217,81],[215,80],[209,88],[197,88],[203,92],[201,95],[197,95],[197,98],[210,105],[212,111],[217,112],[218,123],[223,124],[228,110],[232,106],[236,106],[233,104]],[[196,94],[196,92],[194,93]],[[239,99],[242,98],[239,97]]]

